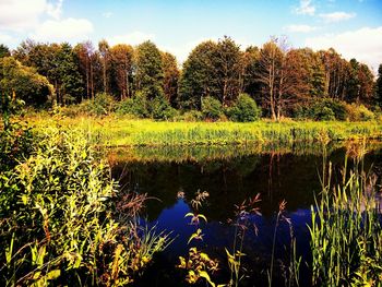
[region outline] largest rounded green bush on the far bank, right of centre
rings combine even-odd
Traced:
[[[261,117],[261,108],[248,94],[241,94],[235,105],[227,109],[227,116],[232,121],[255,121]]]

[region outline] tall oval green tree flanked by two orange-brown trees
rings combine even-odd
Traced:
[[[148,99],[163,94],[163,62],[159,49],[147,40],[135,50],[135,85]]]

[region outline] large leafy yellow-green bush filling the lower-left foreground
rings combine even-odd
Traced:
[[[169,242],[136,224],[144,199],[119,195],[108,166],[80,132],[50,129],[34,144],[0,186],[2,285],[133,282]],[[116,206],[117,200],[126,204]]]

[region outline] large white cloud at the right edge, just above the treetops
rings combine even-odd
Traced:
[[[332,47],[346,59],[356,58],[375,71],[382,59],[382,26],[307,38],[306,46],[317,50]]]

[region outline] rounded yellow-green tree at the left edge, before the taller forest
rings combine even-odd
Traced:
[[[14,95],[27,105],[40,106],[52,91],[49,81],[36,69],[22,65],[13,57],[0,58],[0,94]]]

